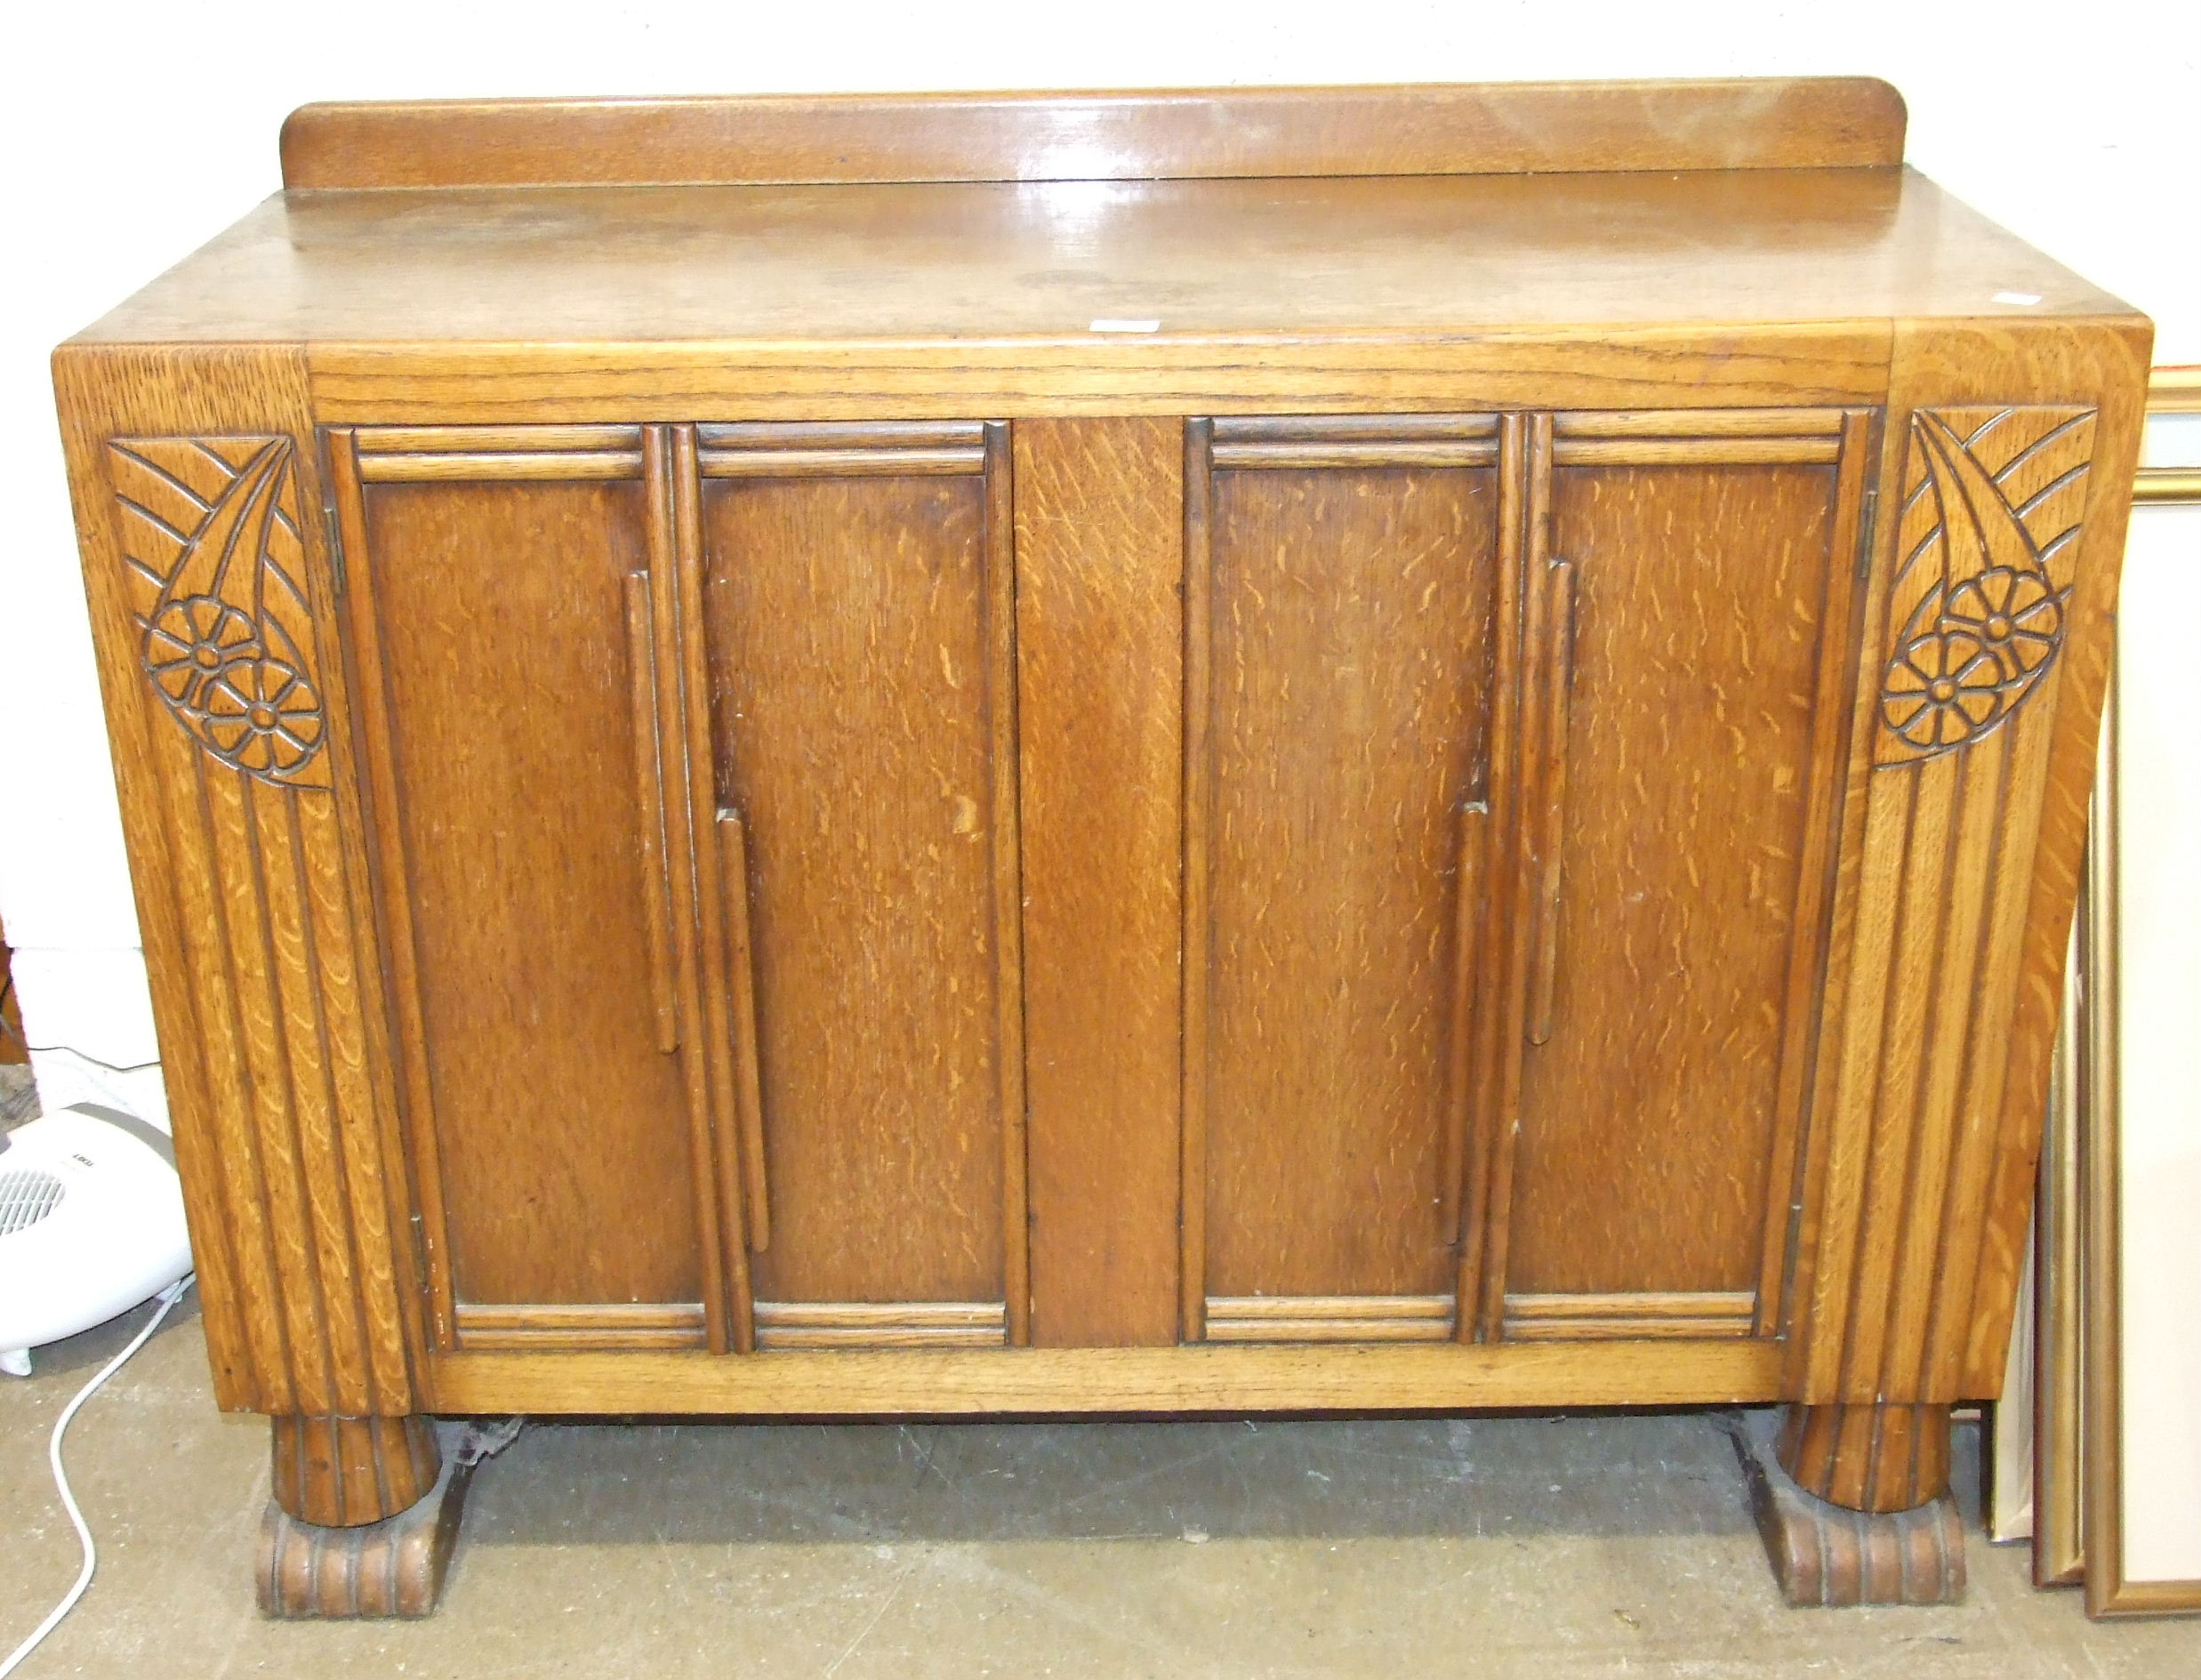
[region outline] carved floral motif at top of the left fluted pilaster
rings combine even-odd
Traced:
[[[108,447],[145,676],[213,757],[326,788],[326,716],[288,438]]]

